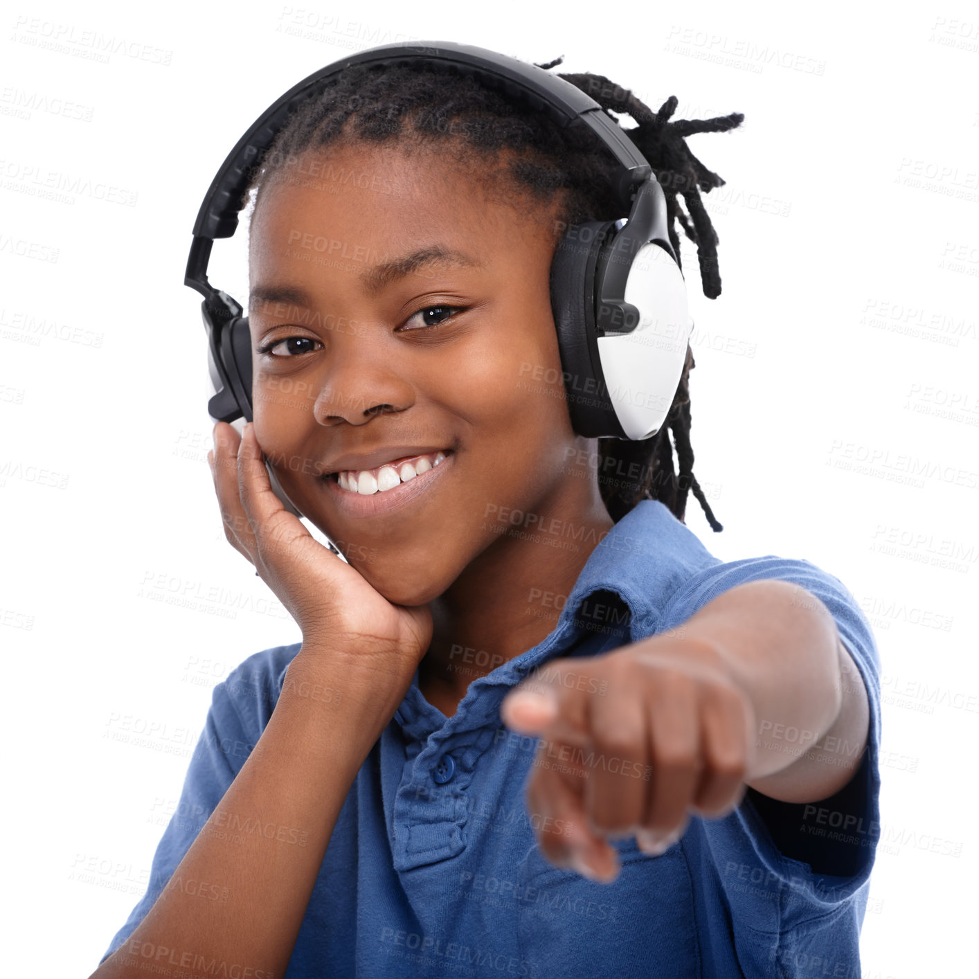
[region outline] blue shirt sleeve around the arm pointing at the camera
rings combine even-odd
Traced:
[[[748,789],[721,819],[699,819],[713,873],[728,906],[753,928],[784,932],[833,913],[862,922],[880,836],[880,657],[862,609],[833,575],[804,560],[768,555],[698,572],[668,602],[657,631],[676,629],[713,598],[755,581],[797,584],[826,607],[862,677],[869,705],[867,745],[840,741],[820,753],[827,764],[854,767],[835,795],[814,803],[784,803]],[[781,737],[792,749],[799,732]],[[805,748],[792,749],[796,753]],[[859,928],[859,924],[858,924]]]

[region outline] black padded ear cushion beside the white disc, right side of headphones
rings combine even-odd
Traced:
[[[595,335],[595,264],[614,221],[573,225],[550,266],[551,312],[557,331],[572,428],[586,438],[619,434],[605,390]]]

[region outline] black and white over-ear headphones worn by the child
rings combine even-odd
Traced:
[[[240,303],[208,282],[215,238],[238,226],[256,165],[291,111],[350,65],[450,67],[522,100],[560,126],[586,125],[619,163],[613,191],[628,217],[570,227],[551,264],[551,308],[572,426],[585,438],[642,441],[659,432],[676,395],[693,320],[667,230],[663,188],[625,130],[580,88],[535,65],[448,41],[369,48],[315,71],[249,128],[211,181],[194,224],[184,284],[204,296],[212,422],[252,421],[252,338]],[[266,460],[269,480],[288,498]]]

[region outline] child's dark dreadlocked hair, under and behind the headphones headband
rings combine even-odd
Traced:
[[[537,65],[549,70],[562,58]],[[636,123],[629,138],[653,169],[667,204],[670,242],[680,261],[676,222],[697,246],[704,295],[721,295],[718,236],[700,192],[724,181],[697,160],[683,137],[724,132],[744,116],[671,121],[672,95],[654,113],[628,89],[600,74],[559,74],[582,89],[613,119],[628,114]],[[618,121],[618,120],[616,120]],[[271,175],[308,151],[354,142],[413,142],[433,146],[452,142],[453,159],[478,167],[481,178],[501,180],[513,193],[529,194],[541,205],[557,203],[556,227],[622,217],[613,197],[616,164],[607,147],[587,126],[562,128],[522,103],[511,101],[451,66],[415,63],[352,65],[334,75],[320,94],[305,99],[288,117],[256,163],[242,199],[254,190],[256,207]],[[500,155],[505,160],[500,161]],[[487,163],[494,163],[489,166]],[[678,198],[686,204],[684,213]],[[641,442],[599,440],[598,487],[609,516],[618,523],[642,499],[665,503],[680,521],[692,490],[711,528],[723,530],[693,475],[690,445],[689,372],[695,366],[687,346],[676,395],[660,431]],[[669,433],[676,445],[674,467]]]

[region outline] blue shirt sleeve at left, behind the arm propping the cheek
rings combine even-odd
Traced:
[[[180,801],[157,845],[146,894],[132,909],[106,954],[99,959],[100,965],[129,938],[154,906],[173,871],[251,754],[261,730],[242,722],[236,701],[247,698],[245,704],[252,706],[252,710],[247,710],[246,716],[256,713],[256,691],[260,695],[261,687],[255,682],[258,678],[255,667],[256,657],[250,657],[214,687],[204,730],[184,777]],[[246,673],[246,668],[251,670]],[[254,705],[253,701],[256,701]]]

